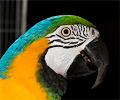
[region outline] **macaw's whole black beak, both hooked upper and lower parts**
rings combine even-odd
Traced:
[[[68,79],[76,79],[98,72],[92,88],[97,87],[103,80],[108,67],[108,50],[102,39],[91,41],[78,55],[67,72]]]

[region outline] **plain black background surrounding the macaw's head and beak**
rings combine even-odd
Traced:
[[[77,15],[95,24],[109,51],[109,69],[103,82],[90,89],[95,75],[69,81],[62,99],[119,98],[119,2],[117,1],[29,1],[28,29],[37,22],[55,15]]]

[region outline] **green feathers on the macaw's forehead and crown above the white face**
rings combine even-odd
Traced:
[[[52,33],[55,31],[59,26],[61,25],[73,25],[73,24],[82,24],[87,27],[94,27],[96,28],[95,25],[93,25],[91,22],[88,20],[75,16],[75,15],[59,15],[59,16],[53,16],[48,18],[49,21],[51,21],[53,24],[51,27],[48,28],[48,34]]]

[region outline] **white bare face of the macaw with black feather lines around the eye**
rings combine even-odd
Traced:
[[[68,29],[68,35],[64,32]],[[75,57],[99,36],[99,32],[93,27],[81,24],[63,25],[46,37],[50,40],[50,48],[45,55],[46,64],[57,74],[66,78],[67,71]],[[80,63],[80,62],[79,62]]]

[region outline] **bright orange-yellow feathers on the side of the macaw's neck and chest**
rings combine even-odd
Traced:
[[[0,80],[0,100],[49,100],[44,87],[37,82],[38,60],[49,46],[47,38],[29,44],[8,67],[9,78]]]

